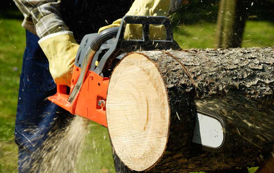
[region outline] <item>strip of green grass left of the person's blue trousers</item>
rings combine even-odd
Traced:
[[[0,172],[16,172],[14,122],[25,29],[21,21],[0,18]]]

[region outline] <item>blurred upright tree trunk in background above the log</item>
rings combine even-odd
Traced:
[[[241,47],[250,1],[221,0],[217,19],[216,48]]]

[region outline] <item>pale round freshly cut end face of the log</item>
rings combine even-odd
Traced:
[[[132,53],[115,68],[108,86],[106,117],[118,157],[131,170],[147,170],[167,143],[170,110],[160,72],[147,57]]]

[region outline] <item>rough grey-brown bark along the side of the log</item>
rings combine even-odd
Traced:
[[[134,52],[116,66],[110,85],[117,82],[113,76],[121,63],[134,56],[145,57],[157,67],[166,86],[170,111],[166,148],[145,172],[232,170],[260,166],[269,157],[274,144],[273,47]],[[107,98],[109,123],[112,113],[108,112],[108,104],[113,103]],[[225,144],[217,152],[204,151],[191,142],[195,110],[200,109],[219,115],[225,123]],[[110,131],[110,124],[108,128]],[[110,138],[117,140],[111,133]],[[115,145],[114,150],[117,153]],[[116,171],[134,172],[123,164],[120,156],[125,153],[117,154]]]

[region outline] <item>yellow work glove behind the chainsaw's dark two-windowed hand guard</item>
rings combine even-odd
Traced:
[[[168,16],[172,10],[174,0],[135,0],[130,10],[125,15],[132,16]],[[110,28],[120,26],[121,19],[114,21],[111,25],[102,27],[99,32]],[[151,25],[149,27],[151,40],[164,40],[166,30],[164,25]],[[124,39],[141,39],[142,25],[128,24],[125,29]]]

